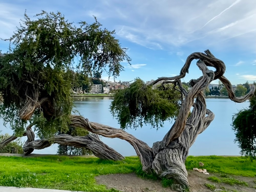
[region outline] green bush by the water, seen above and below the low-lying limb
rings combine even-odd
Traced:
[[[60,134],[64,134],[64,132],[60,133]],[[89,134],[89,132],[80,127],[77,127],[76,129],[74,129],[74,127],[70,127],[69,130],[65,134],[69,134],[71,136],[86,136]],[[92,152],[83,147],[74,147],[74,146],[70,146],[70,145],[59,145],[57,154],[60,154],[60,155],[92,155]]]

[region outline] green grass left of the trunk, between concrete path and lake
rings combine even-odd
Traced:
[[[0,157],[0,185],[72,191],[114,191],[97,185],[94,177],[132,173],[140,167],[138,158],[108,161],[81,157]]]

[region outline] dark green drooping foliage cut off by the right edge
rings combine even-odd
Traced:
[[[253,83],[256,86],[256,83]],[[256,156],[256,92],[250,99],[247,109],[233,115],[232,129],[236,134],[235,142],[241,148],[242,155]]]

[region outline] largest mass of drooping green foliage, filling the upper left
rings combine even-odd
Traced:
[[[20,109],[48,98],[34,113],[25,106],[25,114],[33,115],[24,119],[36,124],[40,137],[68,130],[72,87],[86,84],[93,71],[105,70],[115,78],[123,70],[120,62],[131,60],[114,34],[102,29],[96,18],[92,24],[81,21],[75,26],[59,12],[42,11],[35,20],[25,13],[14,35],[5,39],[10,42],[8,52],[0,52],[1,118],[21,134],[27,122],[20,119]],[[78,81],[74,63],[81,74]]]

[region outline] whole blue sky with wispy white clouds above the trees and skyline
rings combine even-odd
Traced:
[[[256,81],[256,1],[252,0],[0,0],[0,37],[8,38],[27,14],[60,11],[70,21],[93,22],[116,30],[132,66],[117,81],[144,81],[179,74],[188,55],[209,49],[227,66],[232,84]],[[0,41],[0,49],[8,44]],[[108,79],[103,73],[103,79]],[[183,79],[198,78],[195,62]],[[110,79],[112,80],[112,78]],[[182,80],[182,81],[183,81]]]

